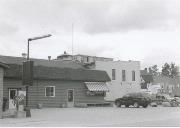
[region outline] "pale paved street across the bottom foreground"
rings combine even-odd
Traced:
[[[180,107],[44,108],[31,114],[31,118],[1,119],[0,126],[180,126]]]

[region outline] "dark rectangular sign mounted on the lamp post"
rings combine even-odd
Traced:
[[[33,85],[33,61],[25,61],[23,62],[23,70],[22,70],[22,84],[25,86]]]

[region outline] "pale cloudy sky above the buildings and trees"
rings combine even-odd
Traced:
[[[73,40],[73,54],[179,65],[180,1],[0,0],[0,55],[21,56],[28,38],[46,34],[30,57],[72,54]]]

